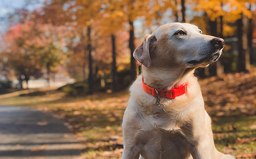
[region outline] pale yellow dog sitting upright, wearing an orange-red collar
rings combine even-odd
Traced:
[[[222,38],[164,24],[134,51],[142,64],[124,112],[122,159],[235,159],[216,150],[194,70],[216,61]]]

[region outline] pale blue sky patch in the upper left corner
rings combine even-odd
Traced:
[[[8,21],[9,15],[23,8],[31,12],[42,7],[44,2],[45,0],[0,0],[0,35],[5,32],[10,24]]]

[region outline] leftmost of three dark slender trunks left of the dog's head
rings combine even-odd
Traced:
[[[89,91],[88,93],[94,92],[94,80],[93,80],[93,57],[92,57],[92,39],[91,39],[91,26],[88,26],[87,28],[87,37],[88,37],[88,44],[87,44],[87,50],[88,50],[88,61],[89,61],[89,77],[88,77],[88,85],[89,85]]]

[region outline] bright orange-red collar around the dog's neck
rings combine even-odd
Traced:
[[[159,93],[159,97],[163,97],[163,98],[169,98],[169,99],[174,99],[178,96],[184,95],[187,92],[187,85],[188,83],[184,83],[180,86],[177,86],[176,88],[172,88],[169,90],[162,90],[162,89],[156,89],[152,88],[148,85],[146,85],[143,81],[143,77],[142,77],[142,85],[143,88],[145,90],[145,92],[147,92],[148,94],[157,97],[157,92]]]

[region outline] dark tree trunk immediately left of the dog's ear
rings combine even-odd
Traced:
[[[130,24],[130,38],[129,38],[129,49],[131,50],[131,79],[135,81],[137,77],[137,62],[133,57],[135,50],[135,36],[134,36],[134,24],[132,21],[129,21]]]

